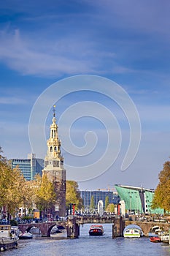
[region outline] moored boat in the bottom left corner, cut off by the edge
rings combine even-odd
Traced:
[[[16,248],[18,236],[11,232],[11,225],[0,225],[0,251]]]

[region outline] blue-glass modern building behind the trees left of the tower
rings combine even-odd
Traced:
[[[36,174],[42,176],[42,170],[45,167],[44,159],[36,158],[35,154],[28,154],[28,159],[13,158],[8,162],[12,169],[18,166],[27,181],[33,180]]]

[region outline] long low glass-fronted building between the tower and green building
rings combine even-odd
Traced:
[[[82,197],[82,203],[85,206],[85,208],[90,208],[90,201],[91,201],[91,197],[93,196],[94,198],[94,204],[95,204],[95,208],[98,207],[98,201],[102,200],[104,203],[104,207],[105,207],[105,199],[106,197],[109,197],[109,203],[118,203],[120,198],[117,195],[116,192],[112,192],[112,191],[102,191],[102,190],[92,190],[92,191],[88,191],[88,190],[84,190],[84,191],[80,191],[80,197]]]

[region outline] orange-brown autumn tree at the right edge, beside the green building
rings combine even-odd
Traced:
[[[152,200],[152,208],[163,208],[170,211],[170,162],[163,165],[163,170],[159,173],[159,184],[155,189]]]

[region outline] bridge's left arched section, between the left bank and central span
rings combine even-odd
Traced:
[[[26,224],[19,224],[18,228],[20,231],[25,232],[25,231],[29,231],[31,230],[31,227],[38,227],[39,230],[42,233],[42,236],[49,236],[50,237],[50,232],[52,230],[52,228],[57,225],[60,224],[63,227],[66,227],[66,222],[39,222],[39,223],[26,223]]]

